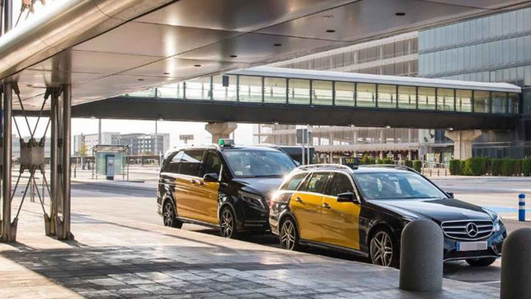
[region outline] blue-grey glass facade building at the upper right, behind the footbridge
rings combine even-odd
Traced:
[[[518,126],[510,131],[484,131],[473,144],[473,155],[531,156],[531,8],[420,31],[418,53],[419,76],[425,78],[508,82],[522,87]],[[485,109],[477,96],[474,109]],[[500,113],[516,109],[504,105],[503,96],[496,93],[491,101],[492,109]],[[451,143],[438,135],[436,142]]]

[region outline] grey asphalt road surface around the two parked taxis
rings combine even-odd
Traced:
[[[456,198],[470,201],[482,206],[511,207],[516,200],[516,195],[520,189],[529,188],[529,180],[513,182],[511,187],[506,187],[505,192],[491,192],[490,190],[502,188],[507,181],[477,180],[467,182],[463,180],[435,180],[444,190],[454,191]],[[526,184],[529,184],[526,186]],[[515,195],[515,196],[513,196]],[[73,219],[82,220],[90,214],[100,214],[126,218],[147,224],[162,225],[161,217],[156,213],[155,194],[149,190],[128,189],[126,187],[116,187],[108,185],[93,185],[74,183],[72,185],[72,209]],[[104,208],[102,208],[104,207]],[[509,232],[523,226],[531,226],[531,223],[518,223],[512,220],[515,216],[512,212],[504,213],[505,223]],[[183,229],[195,230],[205,234],[217,235],[215,229],[198,225],[185,224]],[[254,242],[266,246],[278,247],[278,240],[270,234],[249,236],[246,241]],[[355,260],[368,262],[355,255],[342,254],[323,249],[307,248],[305,252],[311,254],[322,254],[345,260]],[[455,280],[467,281],[491,287],[500,285],[501,260],[497,260],[492,266],[484,268],[470,267],[466,262],[447,262],[444,264],[444,277]]]

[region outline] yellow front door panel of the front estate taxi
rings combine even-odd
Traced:
[[[337,202],[337,197],[324,195],[321,212],[322,242],[359,249],[359,211],[361,206],[352,202]]]

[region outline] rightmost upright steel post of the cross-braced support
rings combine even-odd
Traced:
[[[58,235],[60,239],[72,239],[70,233],[70,135],[71,135],[71,109],[72,109],[72,86],[64,85],[63,94],[63,134],[62,134],[62,194],[63,194],[63,231]]]

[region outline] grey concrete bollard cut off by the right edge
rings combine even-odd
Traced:
[[[510,233],[501,255],[500,299],[531,298],[531,228]]]

